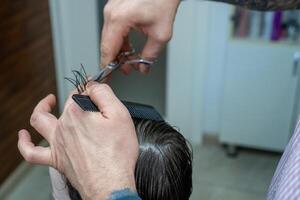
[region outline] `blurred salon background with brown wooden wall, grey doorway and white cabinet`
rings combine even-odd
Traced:
[[[22,161],[17,131],[83,64],[99,70],[103,2],[4,0],[0,8],[0,199],[52,199],[47,167]],[[120,99],[151,104],[194,150],[191,199],[264,199],[299,115],[300,13],[184,1],[148,76],[114,74]],[[136,49],[144,38],[132,33]],[[38,134],[36,143],[43,144]]]

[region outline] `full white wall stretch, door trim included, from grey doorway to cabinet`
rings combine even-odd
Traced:
[[[189,0],[181,3],[175,20],[168,51],[167,116],[195,141],[201,141],[202,133],[220,132],[231,12],[227,4]]]

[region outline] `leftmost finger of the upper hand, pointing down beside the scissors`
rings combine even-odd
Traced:
[[[127,37],[129,29],[123,24],[112,22],[106,23],[102,30],[101,37],[101,66],[104,67],[116,59]]]

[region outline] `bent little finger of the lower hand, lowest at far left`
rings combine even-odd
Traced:
[[[52,165],[49,147],[34,146],[26,130],[19,131],[18,149],[24,159],[32,164]]]

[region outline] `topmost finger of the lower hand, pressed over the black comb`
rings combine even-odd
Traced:
[[[122,114],[124,111],[124,105],[106,84],[90,82],[87,87],[87,93],[106,118]]]

